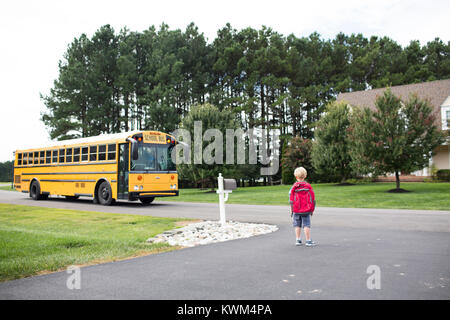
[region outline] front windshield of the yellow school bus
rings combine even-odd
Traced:
[[[131,171],[175,171],[172,161],[173,145],[139,142],[138,159],[131,160]]]

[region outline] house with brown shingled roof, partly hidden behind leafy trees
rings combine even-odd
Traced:
[[[374,109],[377,97],[381,96],[386,89],[341,93],[338,95],[337,101],[347,102],[352,106]],[[437,121],[439,121],[438,125],[441,130],[450,129],[450,79],[394,86],[391,87],[391,91],[402,100],[407,100],[411,94],[417,94],[420,99],[428,100],[435,112],[440,115]],[[422,177],[423,180],[423,177],[431,175],[430,169],[432,165],[437,169],[450,169],[449,141],[436,148],[434,152],[435,155],[432,157],[428,168],[413,172],[411,176],[404,177],[403,180],[414,181],[414,176],[417,178]],[[416,180],[420,180],[420,178]]]

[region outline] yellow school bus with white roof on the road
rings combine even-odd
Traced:
[[[176,143],[163,132],[132,131],[16,150],[14,187],[34,200],[86,196],[103,205],[117,199],[148,205],[155,197],[178,196]]]

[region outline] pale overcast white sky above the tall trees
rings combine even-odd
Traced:
[[[58,77],[58,61],[69,43],[89,37],[102,25],[116,31],[143,31],[162,22],[185,29],[194,22],[212,41],[227,22],[235,29],[271,27],[283,34],[308,36],[339,32],[388,36],[402,46],[435,37],[450,40],[448,0],[39,0],[0,4],[0,161],[16,149],[44,146],[48,133],[39,120]]]

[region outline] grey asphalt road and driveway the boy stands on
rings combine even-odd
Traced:
[[[219,215],[216,204],[103,207],[88,200],[32,201],[8,191],[0,191],[0,203],[215,220]],[[313,248],[294,245],[287,206],[227,205],[227,219],[276,224],[279,230],[83,267],[80,289],[67,288],[66,272],[4,282],[0,299],[450,298],[450,211],[319,207],[312,219],[318,242]],[[375,276],[370,266],[380,271],[379,289],[367,287]]]

